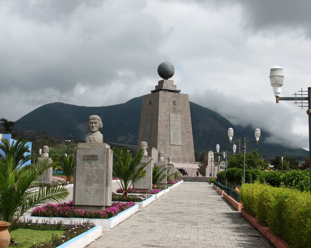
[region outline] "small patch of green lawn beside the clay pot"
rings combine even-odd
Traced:
[[[62,236],[64,231],[41,231],[19,228],[10,232],[11,238],[14,238],[13,245],[10,247],[29,248],[34,242],[40,244],[47,242],[52,238],[52,234]]]

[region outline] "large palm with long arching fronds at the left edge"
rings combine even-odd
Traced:
[[[28,150],[26,142],[21,138],[12,145],[6,139],[2,140],[0,149],[4,155],[0,157],[0,219],[12,222],[14,218],[21,217],[27,210],[47,203],[51,200],[65,200],[69,195],[66,188],[59,186],[46,186],[33,192],[30,188],[39,186],[40,176],[49,167],[44,163],[31,164],[22,167],[30,159],[24,156]]]

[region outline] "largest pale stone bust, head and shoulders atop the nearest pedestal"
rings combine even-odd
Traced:
[[[103,123],[98,115],[91,115],[86,122],[86,129],[89,133],[85,136],[86,143],[103,143],[103,135],[100,130],[103,128]]]

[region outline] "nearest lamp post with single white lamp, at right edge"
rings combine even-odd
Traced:
[[[270,69],[270,83],[273,87],[273,92],[276,98],[276,103],[279,103],[279,101],[294,101],[294,103],[301,107],[308,107],[307,115],[309,119],[309,171],[310,171],[310,193],[311,193],[311,87],[308,87],[308,91],[303,91],[301,88],[301,91],[298,91],[300,93],[293,94],[295,97],[280,97],[281,93],[281,87],[283,85],[283,68],[280,66],[274,66]],[[300,97],[297,97],[297,95]],[[298,101],[298,102],[297,102]]]

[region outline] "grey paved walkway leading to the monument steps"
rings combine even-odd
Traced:
[[[208,183],[183,182],[88,248],[274,247]]]

